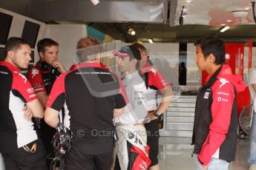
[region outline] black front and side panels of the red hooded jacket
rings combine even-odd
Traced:
[[[217,80],[217,75],[220,73],[222,67],[217,69],[214,75],[211,76],[205,86],[200,89],[197,95],[197,103],[194,116],[194,128],[192,136],[192,145],[194,144],[194,154],[199,154],[206,137],[209,135],[209,126],[212,122],[211,117],[211,103],[212,103],[212,89],[211,86]],[[209,92],[209,98],[204,98],[206,92]],[[220,146],[219,158],[222,160],[232,161],[236,152],[237,143],[237,101],[236,89],[234,87],[234,103],[232,106],[232,118],[229,125],[229,130],[226,134],[226,139]]]

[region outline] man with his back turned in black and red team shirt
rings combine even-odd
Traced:
[[[45,110],[45,122],[59,123],[65,106],[65,126],[73,132],[65,170],[110,170],[114,150],[114,116],[128,103],[119,78],[99,64],[101,47],[76,51],[82,63],[59,76]]]

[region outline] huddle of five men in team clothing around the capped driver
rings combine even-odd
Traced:
[[[157,118],[168,107],[172,91],[148,63],[145,47],[137,43],[113,51],[125,75],[122,81],[100,62],[101,46],[95,38],[78,41],[79,62],[68,72],[57,60],[58,47],[50,38],[40,40],[40,60],[26,78],[19,69],[27,69],[31,60],[29,44],[23,38],[7,41],[0,62],[1,81],[10,82],[1,95],[1,120],[7,121],[0,123],[0,152],[6,169],[50,169],[46,157],[54,157],[50,141],[59,112],[73,132],[65,169],[111,169],[113,158],[114,169],[160,169]],[[157,91],[163,96],[159,105]]]

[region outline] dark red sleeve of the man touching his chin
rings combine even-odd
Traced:
[[[45,84],[42,80],[42,74],[39,69],[33,68],[27,72],[27,80],[33,86],[34,92],[46,92]]]

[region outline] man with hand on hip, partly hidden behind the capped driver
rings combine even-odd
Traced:
[[[150,146],[148,156],[151,159],[151,165],[148,169],[160,170],[157,159],[160,137],[157,120],[169,106],[173,92],[162,73],[149,61],[148,52],[145,47],[138,42],[131,44],[131,46],[137,47],[140,50],[140,75],[144,77],[147,87],[148,119],[145,120],[144,125],[148,135],[147,144]],[[158,106],[156,100],[157,92],[161,94],[161,101]]]

